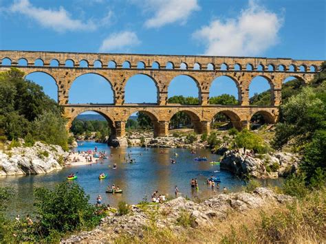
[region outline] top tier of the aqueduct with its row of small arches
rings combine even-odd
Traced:
[[[6,60],[4,60],[6,59]],[[65,67],[71,60],[74,67],[123,68],[123,69],[186,69],[186,70],[226,70],[226,71],[298,71],[316,72],[320,70],[321,60],[292,60],[290,58],[249,58],[219,56],[171,56],[142,54],[86,54],[57,52],[1,51],[1,65],[19,65],[25,60],[26,65],[46,67],[52,60],[58,61],[59,67]],[[4,61],[4,62],[3,62]],[[113,63],[114,65],[110,65]],[[25,63],[24,63],[25,65]]]

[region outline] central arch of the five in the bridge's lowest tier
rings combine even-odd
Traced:
[[[178,109],[176,111],[173,111],[171,113],[169,118],[169,129],[180,129],[179,126],[175,128],[175,123],[173,120],[180,120],[180,118],[176,118],[176,116],[179,116],[181,118],[185,118],[185,121],[187,122],[187,119],[185,116],[188,116],[190,118],[190,124],[188,125],[190,128],[193,128],[195,133],[200,134],[202,133],[202,124],[199,115],[195,111],[191,111],[190,109]],[[184,126],[184,124],[182,124]]]

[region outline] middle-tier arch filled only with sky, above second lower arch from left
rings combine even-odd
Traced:
[[[139,96],[143,94],[142,96]],[[124,103],[159,102],[159,88],[156,80],[147,74],[131,76],[124,85]]]

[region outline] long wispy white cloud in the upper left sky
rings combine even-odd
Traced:
[[[96,30],[96,25],[92,21],[84,23],[79,19],[72,19],[65,8],[58,10],[44,9],[34,7],[28,0],[15,1],[8,11],[24,14],[34,19],[43,27],[50,27],[56,32],[65,32],[68,30]]]

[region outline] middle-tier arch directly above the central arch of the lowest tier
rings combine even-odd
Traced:
[[[200,104],[201,93],[199,82],[193,76],[181,74],[175,76],[168,84],[168,102],[171,102],[173,96],[184,96],[198,99],[198,102],[194,100],[191,104]]]

